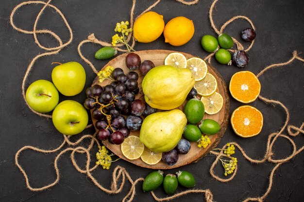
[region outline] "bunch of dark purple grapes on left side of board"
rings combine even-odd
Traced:
[[[95,127],[99,130],[97,138],[121,144],[130,131],[140,129],[143,122],[141,115],[148,116],[157,109],[135,99],[139,92],[135,71],[125,75],[121,68],[115,68],[111,77],[116,81],[104,87],[95,84],[86,89],[84,107],[93,109],[92,117],[97,120]]]

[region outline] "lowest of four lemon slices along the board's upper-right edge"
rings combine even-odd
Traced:
[[[223,107],[223,97],[220,93],[213,93],[210,96],[202,96],[201,101],[204,104],[205,112],[207,114],[216,114]]]

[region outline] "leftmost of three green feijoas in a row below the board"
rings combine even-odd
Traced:
[[[153,171],[147,175],[142,184],[143,191],[152,191],[157,189],[163,183],[163,172],[162,171]]]

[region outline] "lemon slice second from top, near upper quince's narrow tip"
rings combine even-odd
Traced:
[[[201,58],[190,58],[187,60],[187,68],[191,70],[195,81],[200,81],[205,78],[208,67],[205,61]]]

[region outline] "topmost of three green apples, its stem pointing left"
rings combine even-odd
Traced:
[[[76,95],[84,89],[84,67],[78,62],[60,64],[52,71],[52,81],[61,94]]]

